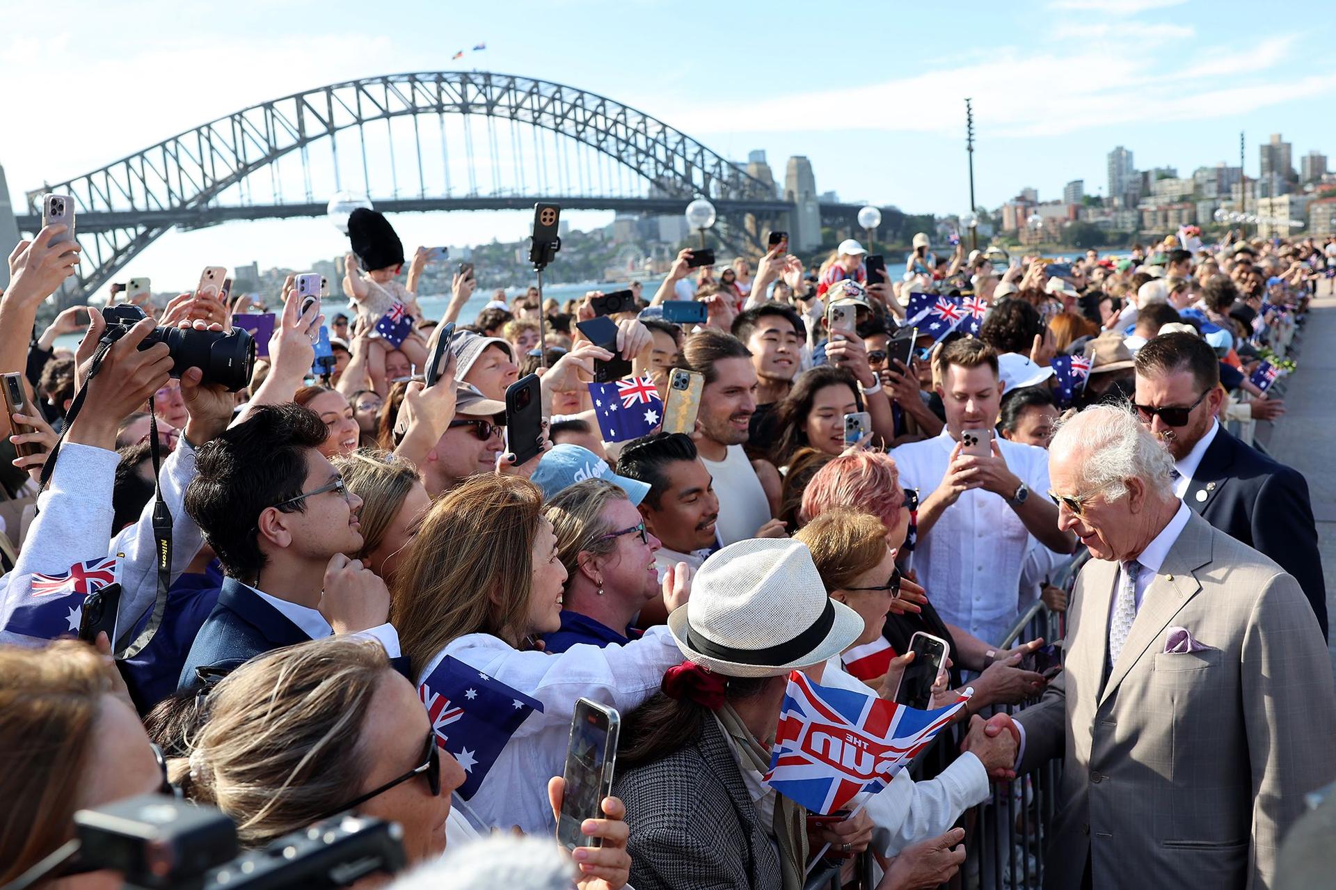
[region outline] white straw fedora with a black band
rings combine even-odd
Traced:
[[[800,541],[754,537],[715,552],[668,616],[677,648],[725,676],[782,676],[843,652],[863,619],[826,593]]]

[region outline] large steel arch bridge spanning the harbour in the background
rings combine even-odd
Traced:
[[[81,301],[172,227],[322,216],[339,191],[387,214],[529,210],[537,200],[679,214],[704,196],[719,215],[711,237],[751,253],[771,229],[815,246],[823,225],[852,230],[860,207],[822,203],[802,178],[778,187],[768,167],[728,160],[613,99],[478,71],[366,78],[243,108],[27,191],[27,207],[15,208],[27,237],[41,226],[48,191],[75,198],[84,249],[60,302]],[[887,231],[903,219],[894,207],[882,214]]]

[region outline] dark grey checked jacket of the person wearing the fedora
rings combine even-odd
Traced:
[[[779,854],[713,719],[693,744],[612,784],[627,806],[636,890],[775,890]]]

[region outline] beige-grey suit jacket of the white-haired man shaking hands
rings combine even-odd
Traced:
[[[1336,691],[1297,581],[1193,514],[1104,680],[1118,564],[1081,571],[1066,668],[1018,716],[1065,756],[1045,887],[1269,887],[1303,795],[1336,776]],[[1168,628],[1209,647],[1166,653]],[[1104,680],[1101,683],[1101,680]]]

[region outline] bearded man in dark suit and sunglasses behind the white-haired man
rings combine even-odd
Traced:
[[[1156,337],[1137,353],[1137,416],[1174,461],[1174,494],[1295,576],[1327,639],[1327,585],[1303,474],[1221,429],[1220,361],[1200,337]]]

